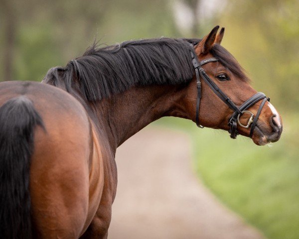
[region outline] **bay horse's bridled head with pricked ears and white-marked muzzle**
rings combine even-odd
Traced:
[[[229,130],[232,138],[239,133],[252,137],[258,145],[276,142],[283,129],[281,116],[263,93],[257,94],[250,86],[242,67],[220,46],[224,28],[217,34],[218,28],[190,52],[191,57],[195,53],[193,66],[198,74],[188,87],[188,95],[193,96],[189,102],[192,119],[203,126]],[[198,117],[194,113],[196,101]]]

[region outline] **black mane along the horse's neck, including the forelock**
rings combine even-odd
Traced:
[[[71,92],[75,81],[83,97],[97,101],[133,86],[177,85],[188,83],[194,74],[190,43],[200,39],[142,39],[98,48],[96,44],[65,68],[51,68],[43,82],[64,84]],[[242,68],[222,46],[215,44],[212,54],[233,74],[245,79]]]

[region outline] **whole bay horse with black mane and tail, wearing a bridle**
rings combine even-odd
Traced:
[[[117,147],[156,119],[190,119],[257,145],[279,140],[280,114],[218,30],[94,44],[41,83],[0,83],[2,238],[107,238]]]

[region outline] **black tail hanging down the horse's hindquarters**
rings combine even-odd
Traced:
[[[0,238],[32,238],[29,167],[34,127],[44,128],[24,96],[0,107]]]

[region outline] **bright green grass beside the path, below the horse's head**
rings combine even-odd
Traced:
[[[255,145],[220,130],[197,129],[192,122],[156,122],[187,132],[193,143],[194,171],[225,205],[269,239],[299,238],[298,115],[285,119],[280,141]]]

